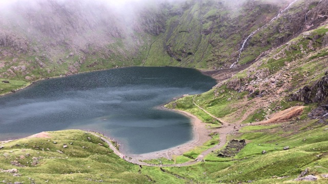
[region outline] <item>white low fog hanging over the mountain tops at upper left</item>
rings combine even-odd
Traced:
[[[291,1],[282,2],[288,5]],[[55,58],[67,49],[86,53],[90,44],[104,49],[118,38],[125,41],[127,53],[134,53],[145,45],[145,37],[158,36],[167,30],[168,18],[191,11],[195,3],[200,7],[224,6],[239,11],[241,6],[253,7],[254,2],[257,1],[0,0],[0,44],[26,53],[32,43],[37,43],[33,45],[33,52],[43,50],[48,58]],[[281,3],[278,0],[265,2]],[[112,51],[108,49],[105,53]],[[117,53],[121,55],[122,51]]]

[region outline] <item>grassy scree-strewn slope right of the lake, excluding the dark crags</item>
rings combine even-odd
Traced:
[[[302,102],[289,102],[289,98],[304,85],[312,84],[320,79],[328,70],[325,59],[328,49],[322,45],[326,32],[328,32],[326,26],[305,32],[289,41],[288,44],[273,49],[250,68],[234,75],[220,87],[215,87],[201,95],[179,99],[170,103],[168,107],[187,110],[204,122],[212,122],[207,114],[195,108],[192,103],[193,98],[198,105],[218,118],[224,117],[230,122],[249,123],[261,121],[268,114],[273,113],[263,108],[264,105],[259,105],[263,102],[269,103],[268,109],[276,109],[277,106],[280,106],[280,109],[286,109],[294,105],[302,105]],[[311,41],[314,37],[317,38],[315,42]],[[310,42],[312,42],[311,46],[309,46]],[[303,49],[300,50],[300,48]],[[257,71],[264,69],[269,71],[269,76],[258,77]],[[271,78],[275,78],[276,82],[270,82]],[[240,93],[238,90],[229,88],[228,85],[233,81],[241,81],[239,88],[249,87],[253,93],[247,90]],[[257,96],[263,91],[265,94],[262,97]],[[273,98],[275,95],[279,98]],[[251,110],[251,107],[254,109]],[[250,114],[245,117],[246,112]]]

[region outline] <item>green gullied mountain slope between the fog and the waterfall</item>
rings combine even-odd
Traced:
[[[155,45],[165,45],[164,51],[181,66],[228,67],[237,59],[239,43],[247,34],[288,4],[287,1],[185,3],[182,10],[175,10],[175,16],[168,20],[168,29]],[[154,63],[156,59],[147,61],[150,65],[161,62],[160,59],[157,63]]]

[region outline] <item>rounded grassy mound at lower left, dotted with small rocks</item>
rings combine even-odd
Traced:
[[[148,182],[146,176],[136,172],[137,166],[119,158],[108,145],[91,134],[80,130],[65,130],[50,132],[50,136],[51,138],[21,139],[5,144],[5,148],[0,150],[0,168],[16,168],[22,176],[14,177],[12,174],[0,172],[0,178],[7,182],[26,183],[30,182],[29,178],[36,183],[47,180],[50,183],[90,183],[89,179],[119,183]],[[91,141],[88,137],[91,137]],[[64,144],[68,147],[63,148]],[[27,153],[30,156],[27,156]],[[19,158],[20,155],[25,158]],[[35,160],[37,164],[32,164]],[[26,167],[13,166],[13,161]]]

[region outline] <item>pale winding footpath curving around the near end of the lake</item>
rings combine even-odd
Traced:
[[[204,157],[207,156],[208,154],[210,154],[212,151],[217,150],[222,148],[224,145],[226,145],[227,143],[227,135],[232,133],[235,130],[234,126],[231,126],[229,123],[223,121],[222,119],[219,119],[215,116],[213,116],[213,114],[211,114],[210,112],[206,111],[205,109],[203,109],[202,107],[200,107],[199,105],[197,105],[195,103],[195,101],[193,100],[193,103],[196,107],[198,107],[199,109],[201,109],[202,111],[206,112],[207,114],[209,114],[212,118],[214,118],[215,120],[219,121],[220,123],[222,123],[222,127],[217,128],[216,132],[219,133],[220,135],[220,141],[219,144],[217,144],[216,146],[207,149],[206,151],[203,151],[201,154],[198,155],[198,157],[195,160],[191,160],[189,162],[186,163],[181,163],[181,164],[170,164],[170,165],[166,165],[166,164],[149,164],[149,163],[145,163],[145,162],[141,162],[140,160],[137,159],[133,159],[131,157],[126,157],[124,154],[122,154],[121,152],[119,152],[116,147],[112,144],[112,142],[110,141],[110,139],[106,136],[100,136],[94,132],[89,132],[91,134],[93,134],[94,136],[99,137],[102,141],[106,142],[110,149],[113,150],[113,152],[118,155],[120,158],[125,159],[127,162],[132,163],[132,164],[136,164],[139,166],[150,166],[150,167],[183,167],[183,166],[190,166],[193,164],[196,164],[197,162],[201,162],[204,160]]]

